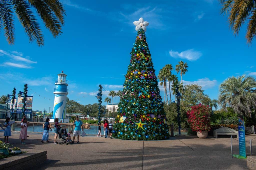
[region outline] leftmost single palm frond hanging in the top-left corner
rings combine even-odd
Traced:
[[[9,44],[14,44],[14,15],[12,11],[12,4],[6,0],[0,0],[0,7],[2,13],[2,22],[4,26],[4,35],[7,38]]]

